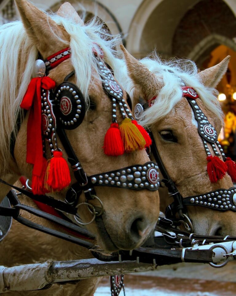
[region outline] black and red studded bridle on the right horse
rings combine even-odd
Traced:
[[[199,98],[198,94],[191,87],[182,87],[182,91],[183,97],[187,99],[195,115],[195,119],[198,123],[198,133],[203,140],[203,145],[207,156],[211,155],[208,147],[208,145],[211,145],[214,154],[216,156],[220,156],[221,154],[222,158],[225,160],[226,156],[223,153],[222,147],[217,140],[216,131],[214,127],[209,123],[207,117],[196,102],[196,98]],[[153,105],[155,99],[156,97],[152,98],[149,101],[149,104],[142,104],[141,102],[135,106],[134,113],[136,119],[139,119],[143,115],[145,109]],[[229,189],[219,188],[217,190],[206,192],[200,195],[183,198],[162,162],[152,132],[148,130],[148,133],[152,139],[151,152],[155,158],[155,161],[158,163],[161,174],[163,175],[163,179],[160,181],[160,183],[164,183],[169,191],[169,194],[174,199],[174,202],[169,204],[166,208],[165,215],[167,219],[165,220],[164,218],[159,218],[160,223],[162,223],[163,225],[179,225],[180,223],[182,223],[188,231],[192,232],[193,229],[191,225],[191,220],[187,216],[186,206],[201,206],[221,212],[225,212],[228,210],[236,212],[236,187],[230,187]],[[218,147],[220,153],[218,152],[216,147]],[[177,213],[179,214],[179,219],[176,219]]]

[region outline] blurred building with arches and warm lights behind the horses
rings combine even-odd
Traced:
[[[56,12],[64,0],[33,0]],[[164,59],[187,57],[200,69],[231,55],[218,85],[226,114],[224,149],[236,156],[236,0],[68,0],[88,21],[98,15],[112,34],[120,34],[128,51],[142,58],[156,51]],[[0,0],[0,21],[17,19],[13,0]],[[234,144],[235,143],[235,144]]]

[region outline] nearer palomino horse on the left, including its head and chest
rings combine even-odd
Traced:
[[[62,161],[61,150],[59,150],[59,148],[58,150],[52,148],[62,148],[65,158],[67,158],[67,156],[64,150],[66,150],[67,154],[70,153],[70,155],[72,153],[71,151],[73,151],[72,154],[78,156],[81,167],[83,167],[83,177],[93,175],[92,178],[87,177],[88,184],[90,183],[91,188],[85,187],[87,189],[86,193],[88,194],[94,186],[92,191],[94,192],[94,190],[96,190],[97,196],[97,199],[94,201],[88,199],[86,193],[83,192],[77,203],[86,201],[87,204],[89,203],[94,207],[96,206],[96,209],[101,208],[102,204],[104,209],[103,214],[100,212],[100,214],[102,214],[102,219],[99,219],[99,223],[96,223],[95,219],[95,221],[87,226],[88,230],[96,235],[96,244],[107,252],[119,249],[134,249],[148,238],[155,227],[159,214],[159,198],[158,191],[156,191],[158,185],[157,182],[148,183],[148,175],[142,177],[142,180],[144,180],[144,177],[146,178],[145,184],[143,184],[143,181],[143,183],[139,182],[141,177],[138,177],[141,173],[144,173],[146,170],[148,171],[149,167],[151,170],[154,170],[153,167],[155,167],[155,164],[149,162],[149,158],[144,149],[136,150],[129,154],[123,154],[118,157],[105,155],[102,149],[104,145],[104,135],[111,124],[111,119],[115,119],[113,124],[116,124],[116,121],[120,123],[122,116],[131,117],[132,115],[125,103],[126,94],[124,93],[124,99],[122,99],[122,89],[112,78],[112,72],[105,64],[106,62],[112,68],[116,67],[116,61],[111,50],[114,43],[112,40],[106,41],[101,38],[104,36],[104,33],[101,31],[101,26],[96,24],[95,21],[85,26],[76,11],[68,3],[62,5],[55,15],[49,15],[25,0],[16,0],[16,5],[20,12],[22,22],[16,21],[0,27],[0,85],[2,89],[0,99],[1,178],[12,184],[16,182],[21,175],[32,179],[32,184],[33,178],[38,182],[43,180],[43,183],[35,182],[33,187],[34,192],[36,194],[42,194],[42,190],[48,192],[50,191],[49,186],[52,188],[55,186],[58,192],[49,192],[47,195],[53,196],[57,200],[64,201],[65,196],[66,198],[68,196],[63,187],[68,186],[68,184],[62,185],[60,182],[65,179],[67,162]],[[35,92],[32,97],[32,88],[30,89],[29,87],[27,89],[27,86],[32,86],[33,80],[30,82],[30,79],[33,76],[33,72],[35,72],[35,60],[37,60],[39,56],[41,57],[41,61],[43,60],[45,62],[46,74],[48,74],[48,76],[43,77],[43,79],[47,78],[47,80],[45,80],[42,97],[40,95],[39,105],[37,105],[38,92]],[[43,76],[45,69],[41,70],[41,67],[43,68],[41,65],[42,64],[40,64],[39,67],[40,69],[36,68],[36,72],[40,74],[40,71],[42,71]],[[108,80],[108,82],[111,84],[111,88],[114,88],[116,97],[114,92],[111,92],[111,89],[108,89],[104,82],[108,75],[111,77],[111,81]],[[69,80],[69,82],[64,81],[65,76],[67,76],[65,80]],[[48,77],[50,77],[50,79]],[[41,81],[40,79],[41,78],[38,78],[37,81]],[[43,79],[42,81],[44,81]],[[55,97],[52,100],[53,103],[50,105],[51,92],[49,90],[47,91],[47,88],[49,88],[47,83],[51,83],[52,80],[56,82],[56,87],[60,87],[57,88],[55,92],[52,92]],[[24,96],[25,93],[28,97]],[[61,93],[63,93],[63,96]],[[74,100],[76,101],[72,101],[72,96],[74,96]],[[22,115],[20,124],[17,124],[17,121],[19,121],[19,116],[17,114],[20,113],[19,106],[23,102],[23,97],[24,103],[32,104],[33,100],[34,105],[31,109],[28,108],[30,112],[27,112],[25,117]],[[31,98],[31,102],[30,100],[26,100],[29,99],[29,97]],[[81,102],[83,103],[83,98],[85,98],[84,104],[89,105],[90,101],[90,107],[87,109],[81,104]],[[116,98],[117,100],[119,99],[120,103],[124,106],[124,108],[120,107],[120,113],[118,111],[116,113],[115,110],[117,103]],[[58,116],[56,112],[51,111],[55,111],[55,104],[59,99],[61,101],[60,110],[57,110],[60,114]],[[25,102],[25,100],[27,102]],[[124,109],[127,113],[124,112]],[[42,131],[41,124],[39,124],[39,127],[35,125],[39,121],[37,110],[40,110],[40,118],[42,116]],[[80,119],[83,110],[84,118]],[[33,113],[33,120],[30,117],[31,111],[35,112]],[[68,115],[69,117],[66,117]],[[54,135],[54,138],[50,138],[50,134],[51,131],[55,132],[56,128],[54,125],[54,130],[52,130],[53,120],[55,121],[54,117],[57,120],[57,135],[61,131],[60,126],[62,126],[65,135],[62,138],[60,137],[60,139],[57,137],[57,143],[54,142],[53,146],[56,135]],[[70,119],[67,120],[65,118]],[[53,120],[51,121],[51,119]],[[79,122],[80,125],[78,126],[77,122],[80,120],[82,122]],[[27,122],[30,122],[30,125],[27,125]],[[129,123],[131,123],[131,121],[129,121]],[[75,125],[76,128],[74,128]],[[47,129],[45,129],[45,126]],[[36,137],[36,134],[38,134],[37,128],[39,128],[40,137],[42,138],[41,134],[43,133],[43,138],[47,140],[45,142],[46,148]],[[14,137],[10,136],[12,131],[14,131],[15,141]],[[35,136],[35,139],[31,138],[31,136]],[[65,141],[65,137],[67,138],[67,142]],[[34,140],[38,141],[36,145]],[[11,156],[9,148],[12,142],[15,142],[14,158]],[[70,144],[70,148],[68,148],[68,143]],[[37,175],[34,172],[36,164],[38,165],[38,159],[42,159],[40,151],[38,150],[38,145],[42,146],[41,151],[45,149],[44,158],[50,158],[50,152],[54,155],[49,162],[50,167],[47,168],[47,174],[49,174],[47,188],[46,185],[44,185],[44,180],[47,180],[46,173],[45,177],[43,175],[43,178],[41,178],[41,175]],[[58,152],[57,154],[56,151]],[[29,156],[31,157],[31,161],[28,160]],[[71,156],[69,157],[71,158]],[[63,165],[64,171],[61,172],[61,179],[57,176],[57,174],[59,175],[61,167],[59,165],[56,166],[57,159],[55,158],[59,158],[61,161],[60,164]],[[149,162],[147,167],[144,166],[146,162]],[[34,167],[32,167],[32,163]],[[50,174],[53,174],[53,166],[55,175],[52,176],[52,183],[49,185]],[[73,172],[81,172],[81,167],[80,164],[77,163],[73,165],[73,170],[71,168],[69,169],[69,177],[71,177],[70,184],[78,183],[78,179]],[[42,170],[43,165],[41,165],[41,171]],[[119,171],[116,172],[116,170]],[[100,172],[108,172],[111,178],[106,176],[107,173]],[[129,177],[126,176],[127,172],[129,173]],[[117,177],[114,176],[115,174]],[[104,179],[104,183],[101,181],[102,179]],[[125,182],[126,179],[129,180],[129,183]],[[57,181],[54,182],[53,180]],[[83,180],[84,179],[82,179],[82,181]],[[86,180],[84,183],[82,181],[79,185],[77,184],[80,189],[81,186],[86,185]],[[38,184],[40,184],[40,186]],[[116,185],[116,187],[100,186],[107,184]],[[60,189],[63,190],[60,191]],[[76,191],[76,187],[72,187],[72,189],[68,191]],[[8,186],[1,185],[0,198],[3,199],[8,191]],[[95,195],[95,193],[93,194]],[[34,203],[27,198],[24,198],[23,201],[26,204],[36,207],[33,205]],[[87,218],[91,220],[92,213],[90,208],[86,206],[80,207],[78,208],[78,212],[82,219]],[[30,214],[26,213],[24,216],[29,217]],[[41,219],[33,218],[35,222],[39,220]],[[44,222],[44,225],[49,225],[49,222]],[[91,256],[91,253],[82,247],[63,242],[54,237],[48,237],[41,232],[36,232],[35,230],[16,223],[14,223],[8,236],[1,242],[1,248],[1,264],[7,266],[51,259],[69,260],[88,258]],[[49,289],[40,291],[39,293],[43,295],[92,295],[95,290],[96,282],[96,279],[91,281],[85,280],[81,281],[81,284],[79,283],[76,286],[71,285],[69,290],[66,291],[60,286],[57,290],[52,291]],[[20,294],[20,292],[15,293],[17,295]],[[35,293],[37,292],[23,292],[24,295],[34,295]],[[14,292],[9,292],[9,295],[16,294],[14,294]]]

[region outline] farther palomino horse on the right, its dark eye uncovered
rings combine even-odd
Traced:
[[[226,172],[225,163],[230,159],[226,158],[217,142],[223,113],[215,90],[226,72],[230,57],[198,72],[195,63],[190,60],[161,61],[155,56],[138,61],[124,48],[123,51],[125,61],[120,61],[123,68],[122,65],[118,68],[116,77],[131,94],[134,107],[140,102],[140,97],[149,105],[141,116],[137,116],[140,116],[139,122],[152,132],[160,159],[173,181],[170,193],[159,189],[160,210],[165,212],[173,202],[171,193],[180,193],[183,200],[180,203],[175,201],[168,209],[169,213],[170,209],[173,212],[172,217],[179,205],[182,209],[182,205],[186,204],[184,208],[187,208],[192,222],[191,231],[203,235],[236,235],[233,223],[236,219],[236,188],[231,188],[232,179]],[[131,80],[127,79],[127,72]],[[140,112],[139,107],[137,113]],[[220,161],[220,166],[224,168],[222,175],[210,181],[209,177],[215,175],[211,175],[211,167],[208,174],[207,160],[210,162],[214,154],[226,162]],[[230,163],[235,168],[234,163]]]

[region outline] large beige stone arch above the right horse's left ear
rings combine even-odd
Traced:
[[[180,19],[190,6],[200,0],[144,0],[132,19],[127,49],[136,57],[146,56],[154,48],[165,55],[171,55],[172,37]],[[153,40],[156,40],[156,42]]]

